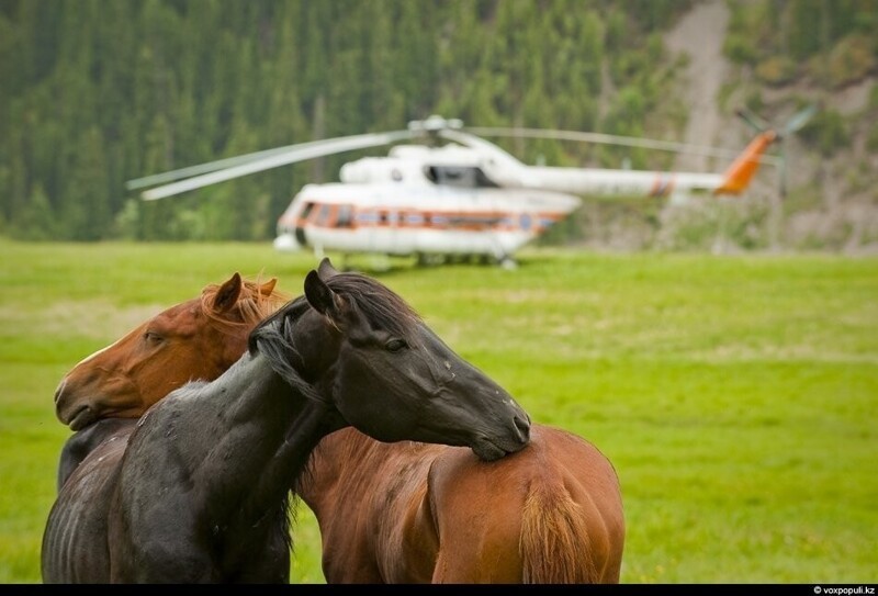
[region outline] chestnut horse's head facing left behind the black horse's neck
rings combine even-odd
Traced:
[[[234,273],[89,356],[55,392],[58,419],[79,430],[101,418],[137,418],[185,382],[216,379],[246,351],[254,326],[289,301],[275,284]]]

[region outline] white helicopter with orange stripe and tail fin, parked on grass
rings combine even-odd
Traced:
[[[491,135],[699,150],[734,160],[722,173],[529,166],[483,138]],[[142,199],[158,200],[307,159],[393,145],[386,157],[345,164],[339,182],[302,187],[278,220],[274,248],[309,248],[317,258],[334,250],[346,257],[414,255],[419,263],[477,259],[511,269],[515,254],[578,209],[581,195],[736,195],[762,164],[778,164],[766,155],[778,137],[765,125],[742,151],[730,153],[595,133],[464,128],[458,119],[431,115],[402,131],[257,151],[131,180],[127,188],[147,189]],[[430,145],[405,143],[423,139]]]

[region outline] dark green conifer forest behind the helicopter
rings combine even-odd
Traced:
[[[685,61],[668,52],[665,35],[698,3],[0,0],[0,235],[266,240],[296,189],[335,179],[358,154],[149,203],[125,181],[315,138],[398,130],[434,113],[480,126],[679,138],[689,112],[679,93]],[[834,176],[846,181],[845,192],[878,205],[868,183],[878,155],[874,2],[727,5],[723,55],[732,68],[718,112],[733,119],[731,97],[770,115],[870,86],[856,114],[824,102],[799,140],[825,159],[859,147],[855,159],[842,158],[853,170]],[[781,100],[778,90],[786,90]],[[633,167],[664,169],[672,161],[558,142],[522,151],[521,159],[554,165],[618,166],[626,157]],[[789,204],[824,203],[803,190]],[[660,225],[648,211],[640,220]],[[756,211],[742,217],[764,216]],[[589,234],[582,217],[562,232],[550,240]],[[863,234],[868,241],[873,232]],[[764,240],[741,244],[758,248]]]

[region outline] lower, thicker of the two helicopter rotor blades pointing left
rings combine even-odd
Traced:
[[[155,201],[157,199],[164,199],[166,196],[199,189],[209,184],[224,182],[233,178],[239,178],[249,173],[277,168],[280,166],[286,166],[289,164],[305,161],[316,157],[352,151],[356,149],[365,149],[369,147],[378,147],[381,145],[390,145],[399,140],[412,138],[417,134],[417,132],[413,131],[394,131],[389,133],[351,135],[291,145],[283,150],[269,149],[267,151],[269,155],[261,158],[252,158],[254,154],[249,154],[250,158],[246,159],[241,164],[237,164],[225,169],[213,169],[207,173],[149,189],[140,193],[140,198],[145,201]]]

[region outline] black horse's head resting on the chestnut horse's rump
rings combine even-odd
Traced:
[[[338,272],[324,259],[305,278],[304,296],[254,330],[250,349],[269,351],[268,338],[278,335],[293,355],[273,357],[275,370],[301,374],[373,438],[466,446],[483,460],[529,440],[530,418],[515,400],[372,278]]]

